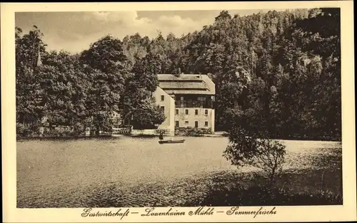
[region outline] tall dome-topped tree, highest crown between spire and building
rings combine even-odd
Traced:
[[[89,78],[87,109],[91,113],[91,130],[111,131],[112,115],[119,110],[126,78],[129,76],[128,59],[122,43],[113,36],[104,36],[81,53],[81,62]]]

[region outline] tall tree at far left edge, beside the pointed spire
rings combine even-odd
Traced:
[[[24,35],[21,28],[16,27],[15,30],[16,122],[23,125],[39,123],[44,113],[40,68],[36,67],[39,53],[46,54],[42,36],[43,33],[36,26]]]

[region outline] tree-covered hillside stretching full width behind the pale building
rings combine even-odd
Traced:
[[[17,123],[46,115],[99,130],[118,110],[154,125],[164,118],[147,99],[156,74],[181,70],[209,73],[216,83],[216,130],[244,125],[271,138],[339,138],[340,39],[339,9],[221,11],[201,31],[106,36],[79,55],[46,52],[39,28],[26,35],[17,28]],[[36,67],[38,48],[43,64]]]

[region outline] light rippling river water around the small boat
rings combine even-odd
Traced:
[[[124,136],[106,140],[17,142],[18,206],[81,207],[90,205],[93,197],[99,195],[95,199],[104,199],[101,200],[106,203],[104,206],[110,206],[113,197],[118,201],[119,194],[131,193],[128,189],[131,187],[149,195],[152,192],[148,185],[172,185],[187,177],[237,171],[222,156],[228,138],[188,137],[185,140],[184,143],[163,145],[156,138]],[[286,167],[310,165],[308,159],[301,157],[313,157],[320,150],[341,150],[340,142],[282,142],[288,151]],[[249,168],[240,171],[244,170]],[[93,205],[96,204],[98,202]]]

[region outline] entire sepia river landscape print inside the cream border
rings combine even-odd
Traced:
[[[349,196],[340,7],[16,11],[14,25],[16,209],[257,215]]]

